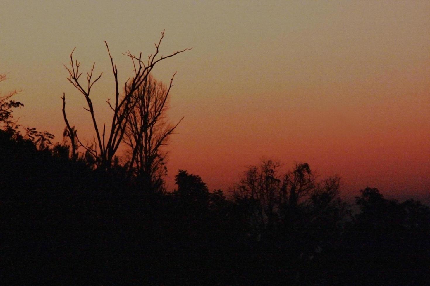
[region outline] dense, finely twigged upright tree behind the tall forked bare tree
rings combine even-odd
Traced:
[[[129,174],[136,175],[145,190],[163,190],[167,152],[162,147],[182,120],[172,125],[166,118],[174,76],[166,87],[149,75],[131,96],[133,107],[128,113],[124,142],[131,155]]]

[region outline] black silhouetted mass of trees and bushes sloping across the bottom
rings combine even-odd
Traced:
[[[96,169],[27,131],[0,130],[2,284],[430,281],[430,211],[412,199],[366,188],[351,214],[338,177],[318,181],[307,164],[281,174],[272,160],[247,169],[228,198],[183,170],[168,193],[118,160]]]

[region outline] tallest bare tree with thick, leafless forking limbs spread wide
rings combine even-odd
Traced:
[[[129,120],[129,114],[130,112],[132,112],[133,108],[135,107],[135,104],[137,104],[136,101],[132,100],[133,94],[135,93],[136,90],[138,90],[141,87],[142,84],[144,84],[147,81],[147,77],[149,76],[154,66],[161,60],[164,60],[168,57],[173,57],[178,53],[181,53],[183,51],[190,49],[190,48],[186,48],[181,51],[175,51],[174,53],[169,54],[167,56],[162,55],[161,57],[158,57],[159,48],[163,37],[164,37],[164,31],[161,33],[159,42],[155,43],[155,48],[156,48],[155,53],[148,56],[148,59],[146,62],[142,60],[142,53],[140,53],[138,56],[135,56],[130,52],[127,52],[126,54],[124,54],[130,57],[130,59],[132,60],[133,67],[134,67],[134,75],[125,82],[123,97],[120,97],[120,86],[118,83],[117,66],[114,64],[114,60],[111,56],[111,52],[109,51],[109,46],[105,42],[107,53],[109,54],[109,58],[111,60],[112,72],[114,74],[114,81],[115,81],[115,92],[114,92],[115,102],[111,104],[110,99],[107,99],[107,104],[114,112],[112,116],[111,128],[109,132],[106,132],[105,124],[103,125],[103,131],[99,130],[97,120],[95,118],[94,107],[92,105],[92,100],[90,97],[91,88],[101,78],[101,74],[98,75],[98,77],[93,78],[93,71],[94,71],[94,64],[93,64],[92,69],[86,73],[87,78],[86,78],[85,84],[81,84],[79,80],[80,76],[82,75],[82,72],[79,71],[80,62],[78,62],[77,60],[74,61],[73,51],[71,52],[70,67],[65,66],[69,72],[68,81],[71,84],[73,84],[74,87],[76,87],[77,90],[79,90],[80,93],[82,93],[86,99],[88,108],[84,107],[84,109],[91,114],[92,125],[94,127],[95,138],[96,138],[94,145],[92,146],[83,145],[82,142],[79,140],[77,133],[71,131],[72,127],[68,123],[68,120],[66,117],[65,95],[63,93],[62,100],[63,100],[64,121],[67,125],[68,135],[70,135],[71,141],[73,142],[74,139],[76,139],[79,142],[79,145],[86,149],[86,153],[91,154],[91,156],[94,157],[97,168],[101,168],[105,170],[111,168],[111,163],[114,158],[114,155],[117,152],[120,146],[120,143],[123,141],[127,122]]]

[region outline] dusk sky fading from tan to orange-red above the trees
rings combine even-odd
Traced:
[[[0,10],[0,72],[22,89],[24,126],[61,140],[61,99],[80,138],[91,139],[83,96],[63,63],[76,46],[93,87],[99,124],[109,122],[113,75],[132,75],[131,51],[193,47],[163,61],[169,117],[184,116],[169,150],[178,169],[226,190],[246,166],[273,157],[338,174],[344,195],[378,187],[430,202],[429,1],[8,1]]]

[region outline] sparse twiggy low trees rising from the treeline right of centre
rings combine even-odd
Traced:
[[[284,174],[280,167],[277,161],[263,159],[257,166],[250,166],[233,188],[237,202],[253,206],[252,226],[257,232],[270,231],[279,219],[294,223],[302,206],[312,205],[323,211],[339,194],[338,176],[316,182],[317,176],[307,163],[295,164]]]

